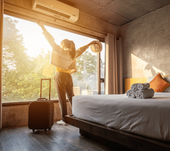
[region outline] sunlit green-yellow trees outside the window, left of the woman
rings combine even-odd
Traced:
[[[16,20],[4,17],[3,102],[36,100],[40,93],[40,79],[47,78],[42,75],[42,71],[45,64],[49,62],[50,55],[44,56],[42,50],[36,58],[30,58],[26,54],[23,37],[16,29],[16,23]],[[47,84],[44,89],[44,96],[47,97]],[[57,97],[55,89],[52,88],[52,90],[52,97]]]

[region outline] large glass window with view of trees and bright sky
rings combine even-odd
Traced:
[[[46,26],[60,44],[75,42],[76,49],[92,38]],[[51,98],[57,99],[54,86],[55,67],[49,67],[52,48],[34,22],[4,15],[2,102],[30,101],[40,96],[40,79],[51,78]],[[104,43],[103,51],[104,50]],[[102,73],[103,74],[103,73]],[[72,74],[75,95],[97,94],[97,54],[90,48],[77,58],[77,72]],[[43,82],[43,97],[48,97],[48,81]]]

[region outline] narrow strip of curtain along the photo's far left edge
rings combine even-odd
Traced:
[[[2,39],[4,0],[0,0],[0,128],[2,128]]]

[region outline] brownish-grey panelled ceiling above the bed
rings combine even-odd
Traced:
[[[170,0],[58,0],[116,26],[170,4]]]

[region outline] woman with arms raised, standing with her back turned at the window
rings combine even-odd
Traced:
[[[97,41],[92,41],[77,50],[75,50],[74,42],[68,39],[62,40],[59,46],[54,42],[52,35],[50,35],[50,33],[45,29],[42,21],[38,20],[37,23],[42,28],[45,38],[53,48],[52,64],[56,66],[56,74],[54,76],[54,80],[62,115],[61,121],[58,121],[57,124],[67,125],[64,122],[64,116],[67,115],[67,103],[65,94],[67,93],[68,99],[72,105],[73,81],[71,74],[77,70],[76,58],[79,57],[85,50],[87,50],[91,44],[95,44]]]

